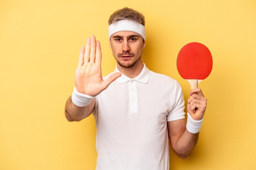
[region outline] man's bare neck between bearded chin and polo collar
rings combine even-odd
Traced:
[[[117,63],[117,68],[118,68],[118,70],[119,70],[122,74],[124,74],[124,75],[126,75],[126,76],[128,76],[128,77],[130,77],[130,78],[135,78],[135,77],[137,77],[137,76],[140,74],[140,72],[141,72],[141,70],[143,69],[143,67],[144,67],[144,64],[143,64],[143,62],[142,62],[141,59],[139,59],[139,60],[135,63],[135,65],[133,65],[132,67],[129,67],[129,68],[122,67],[122,66],[120,66],[120,65]]]

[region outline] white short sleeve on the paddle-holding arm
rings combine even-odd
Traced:
[[[180,84],[175,81],[175,89],[173,90],[173,93],[170,96],[173,98],[173,107],[171,111],[167,115],[167,122],[173,121],[173,120],[179,120],[185,118],[185,112],[184,112],[184,96],[182,89],[180,87]]]

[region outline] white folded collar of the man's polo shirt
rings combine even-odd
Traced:
[[[143,63],[144,64],[144,63]],[[115,68],[115,71],[114,72],[119,72],[121,73],[118,68],[117,68],[117,65],[116,65],[116,68]],[[122,83],[126,83],[128,82],[130,79],[133,79],[135,81],[138,81],[140,83],[148,83],[148,79],[150,77],[150,70],[146,67],[146,65],[144,64],[143,66],[143,69],[141,70],[141,72],[139,73],[139,75],[135,78],[130,78],[124,74],[121,73],[121,77],[117,78],[116,81],[117,83],[119,84],[122,84]]]

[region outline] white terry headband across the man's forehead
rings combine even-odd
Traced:
[[[113,24],[110,24],[108,26],[108,39],[110,40],[110,37],[119,32],[119,31],[132,31],[135,32],[146,41],[146,31],[145,27],[142,24],[139,24],[132,20],[119,20]]]

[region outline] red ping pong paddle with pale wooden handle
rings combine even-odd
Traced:
[[[201,43],[192,42],[181,48],[177,57],[177,69],[182,78],[189,81],[191,89],[209,76],[212,69],[210,50]]]

